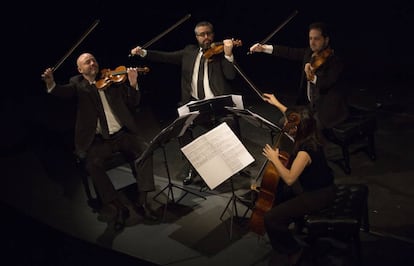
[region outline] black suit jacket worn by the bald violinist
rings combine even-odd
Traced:
[[[96,135],[98,123],[99,95],[95,85],[90,85],[82,75],[77,75],[68,84],[56,85],[51,93],[63,98],[77,97],[75,148],[78,153],[86,152]],[[105,95],[121,125],[138,134],[139,129],[132,111],[139,104],[140,92],[127,82],[112,83],[105,88]]]

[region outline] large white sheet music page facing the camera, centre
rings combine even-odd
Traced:
[[[254,162],[253,156],[225,122],[181,150],[210,189]]]

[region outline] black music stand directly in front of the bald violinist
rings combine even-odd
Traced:
[[[192,121],[198,116],[198,113],[188,113],[185,114],[183,116],[178,117],[177,119],[174,120],[174,122],[172,122],[169,126],[165,127],[163,130],[161,130],[160,133],[158,133],[157,136],[155,136],[148,148],[142,153],[142,155],[135,161],[136,164],[139,164],[140,162],[144,161],[148,156],[152,156],[153,152],[158,149],[161,148],[163,155],[164,155],[164,164],[165,164],[165,169],[167,171],[167,178],[168,178],[168,184],[160,191],[158,192],[156,195],[154,195],[153,199],[159,203],[161,203],[160,201],[157,200],[157,197],[163,193],[166,189],[168,189],[168,194],[167,194],[167,203],[165,204],[165,209],[167,208],[168,205],[168,200],[171,197],[171,201],[173,203],[178,203],[180,200],[182,200],[188,193],[193,194],[195,196],[201,197],[203,199],[207,199],[206,197],[199,195],[195,192],[192,192],[190,190],[187,190],[181,186],[178,186],[176,184],[174,184],[171,181],[171,175],[170,175],[170,170],[168,167],[168,162],[167,162],[167,154],[165,151],[165,145],[172,139],[174,138],[178,138],[180,137],[182,134],[184,134],[185,130],[187,130],[188,126],[192,123]],[[180,189],[182,191],[184,191],[185,193],[176,201],[174,198],[174,191],[173,188],[177,188]],[[161,203],[162,204],[162,203]]]

